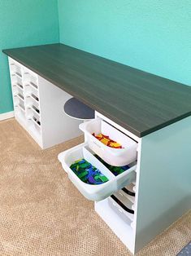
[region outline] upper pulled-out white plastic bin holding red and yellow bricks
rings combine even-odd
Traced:
[[[89,148],[111,166],[125,166],[137,160],[137,143],[100,118],[80,124]],[[111,148],[93,136],[102,133],[120,143],[123,148]]]

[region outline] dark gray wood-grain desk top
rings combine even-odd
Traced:
[[[63,44],[3,52],[142,137],[191,115],[191,87]]]

